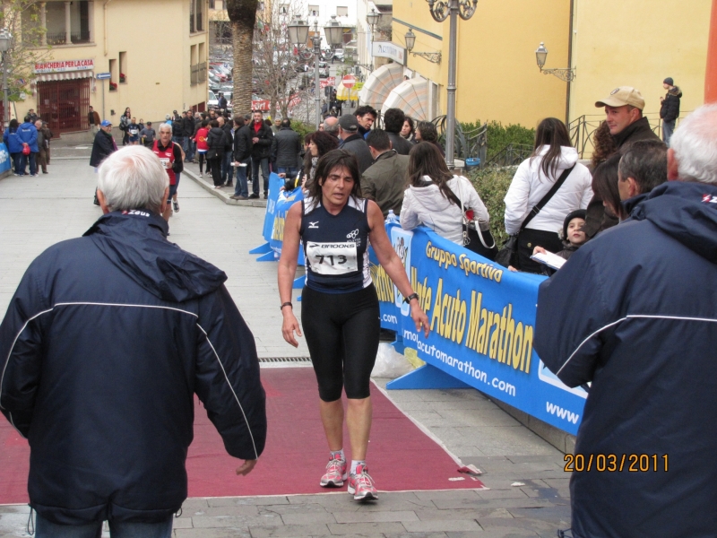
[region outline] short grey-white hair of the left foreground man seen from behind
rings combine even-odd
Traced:
[[[149,209],[160,213],[169,177],[153,152],[125,146],[99,165],[98,188],[110,211]]]

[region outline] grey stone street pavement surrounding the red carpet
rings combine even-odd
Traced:
[[[91,203],[96,178],[86,162],[55,161],[48,175],[0,181],[3,311],[35,256],[81,235],[99,217]],[[169,239],[226,271],[227,286],[255,334],[259,355],[307,356],[303,340],[295,350],[281,339],[276,264],[257,263],[248,254],[261,244],[263,208],[223,204],[187,177],[179,202]],[[376,379],[380,389],[385,382]],[[570,526],[563,455],[486,396],[472,389],[388,391],[388,396],[463,464],[478,466],[490,490],[381,493],[373,504],[358,504],[345,491],[187,499],[175,520],[175,536],[547,537]],[[322,471],[316,470],[317,480]],[[421,473],[420,462],[416,473]],[[380,488],[381,477],[375,478]],[[228,480],[240,479],[232,472]],[[0,538],[26,536],[28,511],[26,506],[0,507]]]

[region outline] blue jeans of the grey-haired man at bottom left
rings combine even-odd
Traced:
[[[172,519],[160,523],[109,522],[109,535],[112,538],[169,538],[172,535]],[[37,515],[35,538],[99,538],[102,534],[102,522],[87,525],[57,525]]]

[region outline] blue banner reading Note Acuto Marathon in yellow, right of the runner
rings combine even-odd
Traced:
[[[538,286],[545,277],[509,272],[423,227],[408,231],[387,224],[386,230],[431,332],[424,338],[416,331],[409,306],[372,252],[381,326],[396,331],[429,365],[577,433],[587,393],[563,385],[532,348]]]

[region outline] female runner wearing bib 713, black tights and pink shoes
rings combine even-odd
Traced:
[[[319,133],[320,134],[320,133]],[[319,159],[307,197],[291,206],[279,260],[279,294],[284,340],[298,346],[301,328],[291,304],[298,247],[303,243],[307,283],[301,293],[301,324],[319,386],[319,408],[329,445],[329,463],[319,482],[341,487],[349,479],[356,500],[376,499],[366,456],[371,430],[370,376],[376,361],[379,309],[371,282],[368,244],[376,252],[405,300],[416,331],[428,337],[428,317],[410,287],[406,270],[386,235],[384,213],[360,197],[358,161],[353,153],[333,150]],[[343,451],[344,411],[348,399],[351,464]]]

